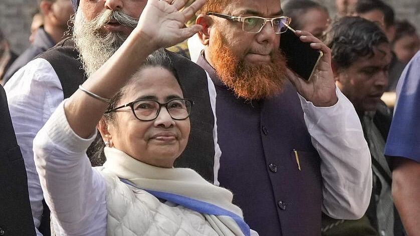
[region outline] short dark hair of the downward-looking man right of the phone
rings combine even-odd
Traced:
[[[331,24],[324,43],[331,49],[337,69],[346,69],[357,59],[373,56],[374,48],[388,43],[385,33],[375,23],[361,17],[343,17]]]

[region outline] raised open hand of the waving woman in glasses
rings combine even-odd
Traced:
[[[167,48],[184,41],[201,30],[199,25],[186,28],[185,22],[204,5],[205,0],[196,0],[180,12],[187,2],[188,0],[147,1],[134,31],[155,49]]]

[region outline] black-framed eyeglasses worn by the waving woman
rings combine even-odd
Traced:
[[[175,98],[167,103],[159,103],[151,99],[139,99],[122,106],[109,109],[105,112],[110,113],[124,107],[131,107],[131,111],[138,120],[151,121],[159,115],[160,108],[163,106],[168,111],[170,117],[174,120],[185,120],[188,118],[193,101],[184,98]]]

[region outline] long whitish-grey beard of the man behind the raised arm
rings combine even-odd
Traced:
[[[90,22],[80,10],[74,16],[73,40],[88,78],[117,51],[128,37],[119,33],[101,32],[102,27],[111,19],[133,29],[138,23],[137,19],[112,10],[106,10]]]

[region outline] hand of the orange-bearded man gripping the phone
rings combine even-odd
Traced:
[[[319,39],[306,31],[296,31],[296,35],[305,43],[311,43],[311,48],[321,50],[324,54],[314,71],[314,74],[306,81],[291,70],[287,70],[287,76],[296,87],[298,93],[307,101],[317,107],[332,106],[337,103],[335,93],[334,76],[331,69],[331,50]]]

